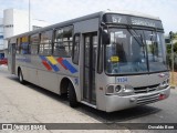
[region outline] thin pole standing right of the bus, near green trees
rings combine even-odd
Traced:
[[[174,84],[174,44],[173,44],[174,33],[173,31],[169,32],[169,39],[171,44],[171,84]]]

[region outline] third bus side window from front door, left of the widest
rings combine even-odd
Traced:
[[[52,54],[52,32],[53,30],[41,33],[40,50],[39,53],[42,55]]]

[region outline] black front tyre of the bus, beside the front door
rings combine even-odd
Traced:
[[[76,100],[76,94],[75,94],[75,90],[74,86],[72,85],[72,83],[69,83],[69,102],[70,102],[70,106],[71,108],[76,108],[79,106],[79,102]]]

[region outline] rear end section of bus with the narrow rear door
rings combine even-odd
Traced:
[[[8,68],[11,74],[15,74],[15,43],[9,44]]]

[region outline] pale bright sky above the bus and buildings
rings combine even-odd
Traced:
[[[159,17],[165,34],[177,32],[177,0],[0,0],[0,18],[9,8],[29,10],[50,24],[102,10],[126,10]]]

